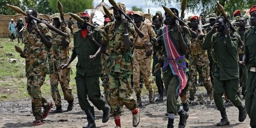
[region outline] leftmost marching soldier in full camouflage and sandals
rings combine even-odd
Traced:
[[[34,9],[28,9],[26,12],[37,17],[37,12]],[[25,20],[28,25],[23,30],[24,54],[20,56],[26,59],[27,91],[31,96],[32,112],[35,117],[33,125],[40,125],[53,106],[52,102],[47,102],[42,97],[40,89],[44,84],[46,73],[49,71],[46,64],[47,54],[51,48],[51,34],[45,24],[36,24],[28,16],[25,16]],[[44,108],[43,113],[42,107]]]

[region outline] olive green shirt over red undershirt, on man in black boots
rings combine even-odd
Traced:
[[[102,40],[102,32],[99,29],[94,29],[93,38],[100,43]],[[88,35],[86,35],[86,38],[83,38],[81,30],[74,33],[73,52],[77,53],[78,62],[76,68],[78,74],[83,76],[92,76],[98,75],[102,72],[99,56],[97,56],[93,61],[89,60],[89,55],[94,55],[97,50],[98,49],[95,47],[93,42],[88,38]]]

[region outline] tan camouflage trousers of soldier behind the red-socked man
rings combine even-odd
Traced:
[[[152,82],[150,79],[151,75],[151,60],[152,56],[148,56],[144,59],[133,60],[133,84],[135,86],[135,93],[140,94],[141,89],[139,88],[140,75],[142,75],[144,84],[148,91],[152,90]]]

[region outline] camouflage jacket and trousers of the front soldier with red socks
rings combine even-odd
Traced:
[[[130,23],[128,28],[131,43],[134,39],[134,26]],[[102,39],[102,44],[106,45],[106,53],[110,53],[105,62],[105,67],[109,69],[109,96],[110,107],[113,115],[121,114],[121,106],[125,105],[129,110],[137,108],[132,95],[131,74],[132,74],[132,54],[130,49],[124,48],[124,25],[115,27],[115,22],[106,24]],[[133,44],[132,44],[133,45]]]

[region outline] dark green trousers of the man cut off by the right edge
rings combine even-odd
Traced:
[[[256,128],[256,72],[248,72],[248,84],[245,94],[245,107],[251,121],[250,126]]]

